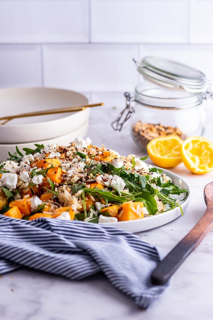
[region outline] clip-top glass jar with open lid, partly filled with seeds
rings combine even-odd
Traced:
[[[131,136],[143,151],[159,136],[176,134],[184,140],[203,135],[203,101],[211,97],[205,75],[162,58],[145,57],[135,63],[144,80],[136,86],[134,98],[125,93],[126,108],[112,123],[113,128],[121,130],[131,116]]]

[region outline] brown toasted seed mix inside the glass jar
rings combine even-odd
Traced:
[[[158,137],[174,134],[185,140],[186,135],[177,127],[164,126],[162,124],[142,123],[138,121],[132,125],[133,139],[138,141],[144,148],[150,140]]]

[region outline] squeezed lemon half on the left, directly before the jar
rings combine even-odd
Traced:
[[[172,168],[182,162],[183,140],[176,135],[152,139],[147,145],[150,159],[159,167]]]

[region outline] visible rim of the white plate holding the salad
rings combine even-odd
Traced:
[[[158,168],[158,167],[156,167],[156,168]],[[187,198],[184,201],[180,201],[181,207],[184,212],[188,206],[188,203],[189,203],[189,200],[191,197],[191,190],[190,190],[188,184],[182,178],[180,178],[177,174],[175,174],[169,170],[165,170],[163,168],[159,168],[159,169],[162,169],[164,171],[164,173],[167,176],[169,176],[172,179],[172,181],[177,185],[179,185],[179,179],[181,179],[182,183],[183,183],[181,188],[189,190]],[[143,219],[129,220],[129,221],[118,221],[118,222],[103,223],[103,224],[104,225],[107,224],[110,227],[117,227],[119,229],[135,233],[135,232],[141,232],[141,231],[146,231],[146,230],[153,229],[156,227],[160,227],[160,226],[162,226],[172,220],[175,220],[180,215],[181,215],[180,209],[179,209],[179,207],[176,207],[174,209],[171,209],[170,211],[162,212],[162,213],[159,213],[154,216],[145,217]]]

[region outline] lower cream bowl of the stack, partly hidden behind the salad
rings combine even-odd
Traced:
[[[33,148],[35,143],[37,144],[43,144],[44,146],[48,145],[49,143],[57,143],[62,146],[68,146],[71,141],[73,141],[76,137],[85,138],[87,134],[87,128],[88,128],[88,121],[83,124],[79,129],[70,132],[66,135],[57,137],[57,138],[51,138],[48,140],[41,140],[41,141],[34,141],[34,142],[27,142],[27,143],[17,143],[17,144],[0,144],[0,162],[6,160],[8,156],[8,152],[11,151],[13,154],[16,151],[16,146],[19,148],[20,151],[22,151],[23,148]],[[25,152],[23,152],[25,154]]]

